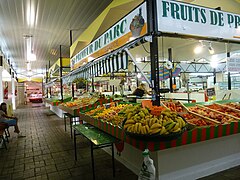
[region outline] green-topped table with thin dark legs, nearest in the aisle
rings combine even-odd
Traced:
[[[117,142],[118,139],[116,139],[115,137],[99,130],[98,128],[96,128],[96,127],[94,127],[90,124],[74,125],[73,129],[74,129],[75,160],[77,161],[76,136],[77,135],[82,135],[85,138],[87,138],[91,143],[92,173],[93,173],[93,179],[95,179],[93,150],[111,146],[112,147],[113,177],[115,177],[115,163],[114,163],[114,146],[113,146],[113,143]]]

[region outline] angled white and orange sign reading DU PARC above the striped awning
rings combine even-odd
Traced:
[[[76,69],[91,60],[107,54],[136,37],[147,33],[146,3],[138,6],[123,19],[114,24],[100,37],[82,49],[71,58],[71,70]],[[90,59],[90,58],[89,58]]]

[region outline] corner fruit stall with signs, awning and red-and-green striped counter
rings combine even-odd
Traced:
[[[197,15],[192,12],[193,9],[197,9]],[[181,13],[180,11],[183,10],[185,10],[184,13]],[[142,81],[145,81],[152,89],[153,104],[158,106],[161,104],[166,108],[172,106],[168,103],[161,103],[160,89],[167,86],[173,93],[173,85],[177,84],[174,81],[179,78],[179,76],[174,77],[174,73],[177,73],[177,67],[183,73],[198,72],[199,70],[201,70],[201,73],[212,73],[214,78],[217,77],[216,73],[226,71],[228,87],[231,87],[230,75],[234,69],[233,66],[237,66],[238,61],[236,61],[235,56],[237,56],[239,50],[238,23],[235,22],[234,17],[239,17],[239,15],[177,1],[147,1],[72,57],[72,71],[63,78],[63,81],[73,81],[77,77],[94,79],[95,76],[120,70],[128,72],[132,71],[130,64],[133,64],[138,70],[137,73],[141,74]],[[130,21],[128,21],[129,19]],[[128,27],[131,30],[137,29],[136,24],[130,23],[131,20],[134,22],[134,19],[138,21],[136,24],[140,24],[141,28],[138,30],[140,33],[137,37],[130,40],[135,32],[130,32]],[[143,27],[146,28],[146,31],[143,31]],[[122,35],[128,41],[124,41],[125,44],[118,44],[119,46],[113,47],[109,53],[110,44],[122,38],[121,36],[114,37],[114,39],[109,38],[109,33],[111,34],[117,29],[119,29],[118,35]],[[200,46],[199,49],[202,49],[204,55],[193,51],[197,45]],[[105,47],[108,48],[105,49]],[[215,55],[211,54],[213,48]],[[94,57],[94,60],[88,61],[89,56]],[[145,67],[141,67],[136,58],[142,59],[143,62],[141,63],[143,64],[149,64],[149,69],[146,72],[144,72]],[[222,63],[223,66],[206,65],[210,64],[210,61],[217,61]],[[230,68],[231,66],[233,69]],[[183,79],[181,83],[188,88],[189,78]],[[162,83],[163,81],[166,82]],[[216,79],[213,81],[213,84],[215,83]],[[196,97],[199,95],[200,93]],[[202,93],[201,95],[199,101],[206,100],[205,94]],[[177,94],[177,96],[179,97],[180,94]],[[189,92],[187,96],[189,96]],[[173,98],[174,95],[169,97]],[[196,97],[191,97],[191,99],[196,99]],[[238,105],[238,103],[235,105]],[[186,124],[191,124],[193,129],[187,130],[183,125],[178,127],[180,122],[170,118],[174,122],[169,123],[167,127],[163,123],[161,128],[158,123],[155,125],[159,127],[154,128],[157,132],[156,137],[152,137],[150,131],[146,130],[147,125],[150,126],[146,122],[134,120],[134,128],[133,125],[131,125],[131,128],[129,125],[130,129],[124,128],[122,122],[126,117],[113,116],[119,115],[121,106],[121,108],[119,106],[116,106],[115,109],[109,108],[110,110],[106,110],[105,113],[101,112],[102,107],[98,107],[100,109],[95,108],[96,111],[99,111],[97,115],[92,116],[89,114],[90,112],[80,112],[80,116],[84,121],[125,142],[123,143],[122,155],[118,159],[136,174],[141,167],[141,151],[145,148],[152,151],[151,155],[154,159],[158,179],[195,179],[239,165],[238,117],[233,118],[226,115],[228,118],[224,119],[223,112],[216,112],[216,110],[207,113],[211,115],[211,117],[207,117],[205,111],[210,111],[210,107],[203,107],[202,104],[194,104],[194,106],[196,106],[195,109],[181,106],[187,109],[185,114],[176,112],[185,117]],[[174,109],[171,110],[174,111]],[[140,111],[132,113],[130,117],[137,113],[140,113]],[[202,115],[201,113],[205,114]],[[142,117],[143,115],[139,114],[137,116]],[[224,121],[219,121],[220,116]],[[177,123],[178,126],[176,126]],[[172,134],[174,134],[174,137],[170,136]],[[225,146],[228,148],[222,148]],[[108,150],[106,149],[106,151]],[[199,152],[204,157],[199,158]]]

